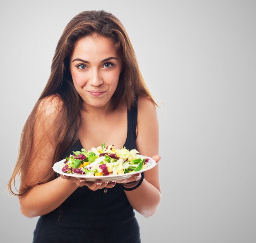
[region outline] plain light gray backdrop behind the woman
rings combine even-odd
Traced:
[[[1,1],[1,241],[31,242],[37,218],[5,187],[22,126],[77,13],[104,9],[126,27],[161,105],[162,202],[137,215],[143,243],[256,242],[256,3]],[[127,232],[129,234],[129,232]]]

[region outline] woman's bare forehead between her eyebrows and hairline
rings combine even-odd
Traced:
[[[115,44],[103,36],[88,36],[78,40],[72,53],[72,58],[84,58],[87,61],[103,60],[110,56],[117,57]]]

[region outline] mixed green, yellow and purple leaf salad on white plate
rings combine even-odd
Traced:
[[[73,151],[62,165],[62,172],[86,174],[88,176],[108,176],[139,172],[150,165],[150,158],[140,158],[136,149],[125,147],[114,149],[113,145],[92,148],[89,151]]]

